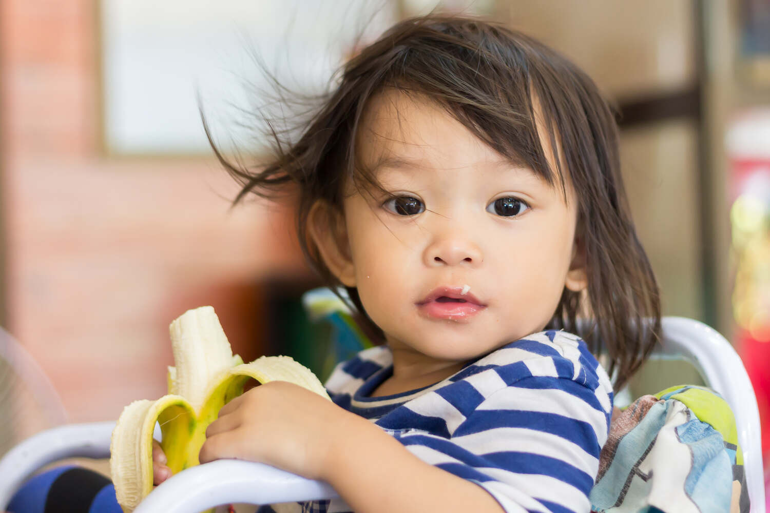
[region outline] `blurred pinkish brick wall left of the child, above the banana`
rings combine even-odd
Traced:
[[[5,327],[72,421],[162,395],[167,326],[187,308],[213,305],[254,352],[259,281],[306,273],[286,212],[229,212],[216,162],[102,155],[96,15],[88,0],[0,2]]]

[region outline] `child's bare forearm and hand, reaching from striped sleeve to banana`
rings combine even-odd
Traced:
[[[299,386],[272,381],[219,412],[200,461],[262,461],[323,479],[357,513],[503,511],[483,488],[429,465],[370,421]]]

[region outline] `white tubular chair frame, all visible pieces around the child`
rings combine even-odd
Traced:
[[[752,513],[765,513],[759,412],[741,359],[717,331],[701,322],[663,319],[663,347],[654,358],[691,361],[735,414]],[[0,460],[0,511],[14,491],[42,466],[62,458],[109,458],[114,421],[63,425],[28,438]],[[159,430],[158,430],[159,431]],[[227,503],[254,505],[335,498],[322,481],[249,461],[219,460],[188,468],[159,485],[136,513],[193,513]]]

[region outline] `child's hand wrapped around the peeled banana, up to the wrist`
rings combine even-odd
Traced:
[[[201,463],[219,458],[260,461],[323,479],[347,421],[358,418],[287,381],[252,388],[219,410],[206,429]]]

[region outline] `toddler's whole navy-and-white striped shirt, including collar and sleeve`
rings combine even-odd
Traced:
[[[590,511],[612,386],[584,341],[544,331],[511,342],[435,385],[370,397],[393,373],[387,347],[361,351],[326,382],[332,400],[414,455],[474,481],[505,511]],[[301,511],[350,511],[312,501]]]

